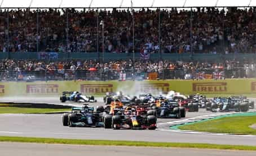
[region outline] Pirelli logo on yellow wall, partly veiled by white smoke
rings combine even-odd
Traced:
[[[169,92],[169,83],[140,84],[139,92]]]

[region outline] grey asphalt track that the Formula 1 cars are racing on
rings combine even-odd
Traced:
[[[24,100],[25,99],[25,100]],[[1,98],[1,101],[42,102],[60,104],[58,97],[16,97]],[[99,99],[100,100],[100,99]],[[1,102],[0,101],[0,102]],[[91,104],[91,105],[101,105]],[[68,102],[65,104],[69,104]],[[72,104],[73,105],[73,104]],[[79,104],[78,104],[79,105]],[[200,109],[197,113],[187,113],[187,118],[212,114]],[[158,119],[158,123],[176,119]],[[191,142],[229,145],[254,145],[256,137],[230,136],[202,133],[181,133],[170,131],[136,131],[136,130],[106,130],[104,128],[63,127],[61,114],[0,114],[0,136],[54,137],[64,139],[96,139],[96,140],[130,140],[156,142]]]

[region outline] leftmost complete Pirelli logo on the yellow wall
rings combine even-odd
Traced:
[[[52,94],[58,93],[58,84],[27,84],[27,93]]]

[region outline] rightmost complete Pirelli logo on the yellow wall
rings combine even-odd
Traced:
[[[194,92],[226,92],[227,82],[198,82],[193,83]]]

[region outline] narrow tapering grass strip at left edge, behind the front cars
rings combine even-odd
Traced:
[[[53,108],[19,108],[15,106],[0,106],[0,113],[22,113],[22,114],[36,114],[36,113],[51,113],[51,112],[65,112],[69,109],[53,109]]]

